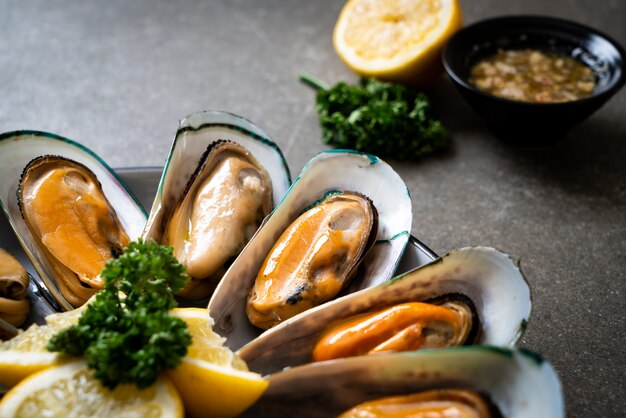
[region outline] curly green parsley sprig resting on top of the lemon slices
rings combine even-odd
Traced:
[[[120,383],[153,384],[187,354],[187,325],[168,314],[174,294],[187,283],[172,248],[141,239],[111,260],[101,290],[77,324],[54,335],[48,350],[84,356],[94,376],[110,389]]]

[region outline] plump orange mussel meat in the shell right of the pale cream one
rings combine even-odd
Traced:
[[[246,312],[268,329],[334,298],[374,244],[378,213],[367,197],[337,192],[300,215],[267,255]]]

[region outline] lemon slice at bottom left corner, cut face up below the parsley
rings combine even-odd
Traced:
[[[11,389],[0,402],[3,418],[183,417],[176,389],[160,378],[147,389],[119,385],[113,391],[92,376],[84,361],[41,371]]]

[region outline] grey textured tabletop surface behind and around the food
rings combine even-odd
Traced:
[[[177,120],[241,114],[297,174],[325,147],[303,70],[355,80],[331,33],[342,1],[0,1],[0,131],[83,142],[110,165],[162,165]],[[462,0],[465,23],[546,14],[626,44],[623,0]],[[490,245],[521,259],[534,311],[523,346],[561,376],[568,415],[626,414],[626,90],[562,144],[497,142],[450,82],[431,92],[451,151],[392,165],[413,234],[438,253]],[[539,127],[538,127],[539,129]]]

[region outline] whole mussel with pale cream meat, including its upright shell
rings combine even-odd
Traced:
[[[186,299],[212,293],[289,185],[280,150],[261,133],[221,112],[181,122],[143,236],[174,247],[191,277]]]

